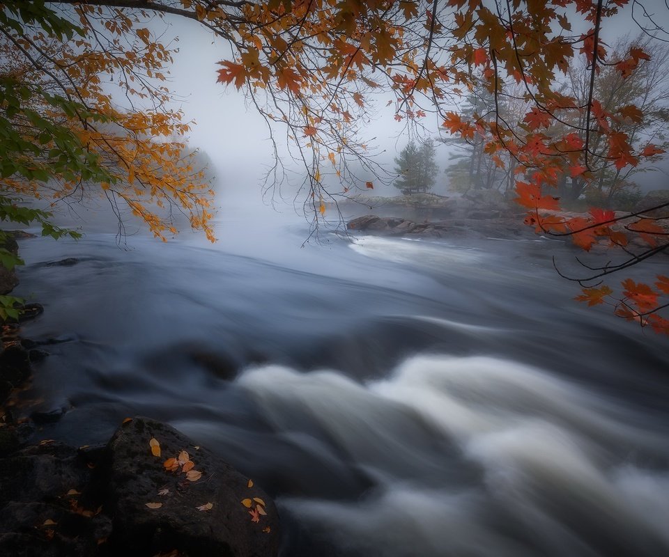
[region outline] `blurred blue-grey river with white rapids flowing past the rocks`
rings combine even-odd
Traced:
[[[574,252],[269,220],[22,240],[39,434],[171,423],[275,497],[284,557],[669,554],[669,343],[576,304]]]

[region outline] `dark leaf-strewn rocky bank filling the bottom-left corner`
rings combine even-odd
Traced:
[[[1,555],[278,553],[268,495],[169,425],[126,418],[106,445],[79,448],[50,439],[20,448],[17,432],[0,432]]]

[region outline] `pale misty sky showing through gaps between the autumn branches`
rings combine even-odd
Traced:
[[[647,13],[652,13],[657,22],[669,29],[669,8],[664,1],[646,0],[644,4]],[[634,9],[637,18],[643,19],[640,4],[637,3]],[[630,8],[625,8],[619,16],[608,22],[605,40],[613,41],[627,33],[636,34],[636,24],[631,22],[630,13]],[[165,21],[169,27],[163,40],[170,36],[179,38],[180,52],[176,54],[171,67],[172,81],[169,87],[180,97],[179,106],[187,119],[196,122],[190,133],[190,142],[206,150],[213,159],[220,194],[261,201],[259,182],[272,162],[271,144],[265,123],[252,107],[246,106],[243,93],[232,86],[226,88],[216,83],[216,63],[230,58],[229,47],[197,22],[169,16]],[[579,24],[583,26],[578,16],[574,15],[574,31],[578,31]],[[383,111],[379,108],[378,111],[378,118],[365,131],[378,138],[378,159],[392,169],[392,159],[406,144],[408,137],[402,135],[403,125],[393,120],[390,109]],[[436,123],[433,130],[436,134]],[[438,146],[438,159],[443,171],[448,164],[448,153],[444,146]],[[648,189],[655,189],[663,187],[667,176],[663,173],[648,173],[644,180],[648,182]],[[397,190],[380,187],[375,193],[395,194]]]

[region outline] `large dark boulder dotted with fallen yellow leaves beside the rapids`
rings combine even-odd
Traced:
[[[151,454],[149,441],[160,443],[161,455]],[[109,441],[109,494],[105,510],[114,517],[110,541],[119,553],[155,555],[178,550],[191,556],[271,557],[279,549],[279,517],[268,496],[249,478],[172,427],[134,418]],[[187,450],[201,480],[169,472],[163,463]],[[159,495],[168,489],[164,495]],[[263,501],[266,515],[252,521],[253,508]],[[161,503],[149,508],[146,503]],[[212,503],[210,510],[197,507]]]

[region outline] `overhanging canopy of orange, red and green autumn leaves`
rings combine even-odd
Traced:
[[[622,83],[652,63],[652,45],[612,49],[601,38],[608,20],[630,9],[627,4],[6,1],[0,10],[8,57],[0,72],[1,176],[8,192],[2,203],[13,207],[15,198],[44,192],[80,195],[94,185],[114,206],[144,218],[156,235],[164,237],[171,224],[151,204],[185,210],[192,226],[211,235],[208,186],[182,161],[183,144],[169,139],[188,126],[170,108],[169,90],[161,83],[171,53],[148,25],[155,15],[187,17],[229,43],[231,56],[220,62],[217,80],[243,90],[275,145],[285,139],[305,168],[305,209],[316,226],[325,201],[345,198],[352,187],[371,187],[357,184],[349,165],[375,168],[364,128],[376,95],[385,92],[395,120],[421,127],[436,118],[445,131],[480,143],[498,168],[510,169],[530,226],[569,236],[585,250],[608,242],[615,262],[574,277],[583,284],[583,299],[611,304],[619,315],[668,333],[661,311],[668,306],[669,278],[626,279],[617,290],[600,282],[666,253],[667,217],[658,211],[668,204],[620,216],[598,208],[585,217],[560,212],[564,180],[576,188],[599,176],[610,182],[664,152],[659,135],[633,132],[634,125],[654,118],[638,95],[612,104],[610,86],[597,86],[607,76]],[[628,17],[639,20],[647,36],[662,33],[638,6],[634,1],[636,15]],[[585,24],[573,31],[577,20]],[[100,85],[102,75],[116,81],[127,106],[111,101]],[[570,79],[577,86],[570,88]],[[459,111],[463,96],[482,90],[491,107]],[[511,102],[517,118],[500,110]],[[283,164],[276,156],[268,180],[282,180]],[[325,173],[336,174],[339,186],[326,187]]]

